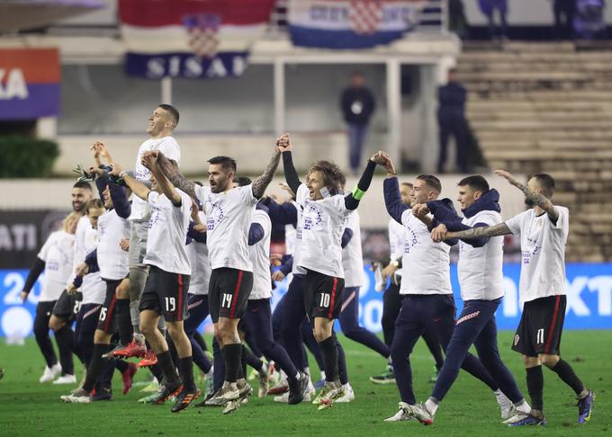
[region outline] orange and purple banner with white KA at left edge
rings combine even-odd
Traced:
[[[57,49],[0,49],[0,120],[59,113]]]

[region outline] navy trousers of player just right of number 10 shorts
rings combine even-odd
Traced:
[[[375,334],[359,326],[359,287],[348,287],[342,290],[342,308],[340,310],[340,327],[342,333],[351,340],[362,343],[374,352],[389,358],[389,346]]]

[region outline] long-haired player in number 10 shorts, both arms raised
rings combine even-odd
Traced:
[[[338,374],[338,345],[333,332],[344,290],[341,240],[348,216],[372,182],[376,163],[370,159],[357,186],[347,196],[340,190],[343,175],[337,165],[318,161],[311,165],[307,183],[300,182],[293,166],[292,144],[288,135],[281,138],[284,176],[302,209],[302,256],[306,270],[304,306],[313,319],[313,331],[325,365],[326,383],[313,404],[320,409],[331,406],[344,390]]]

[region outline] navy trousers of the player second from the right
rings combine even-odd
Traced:
[[[446,346],[446,361],[437,376],[436,386],[431,396],[442,400],[459,375],[459,368],[472,344],[478,352],[482,365],[489,372],[500,390],[513,403],[523,398],[517,380],[501,361],[497,343],[495,311],[501,299],[467,300],[461,316],[456,321],[455,331]]]

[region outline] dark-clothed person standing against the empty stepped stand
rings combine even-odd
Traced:
[[[445,173],[446,150],[450,136],[457,146],[457,167],[467,173],[467,121],[465,120],[465,101],[467,93],[457,80],[457,70],[448,70],[448,83],[437,89],[437,121],[440,135],[440,155],[437,160],[437,173]]]

